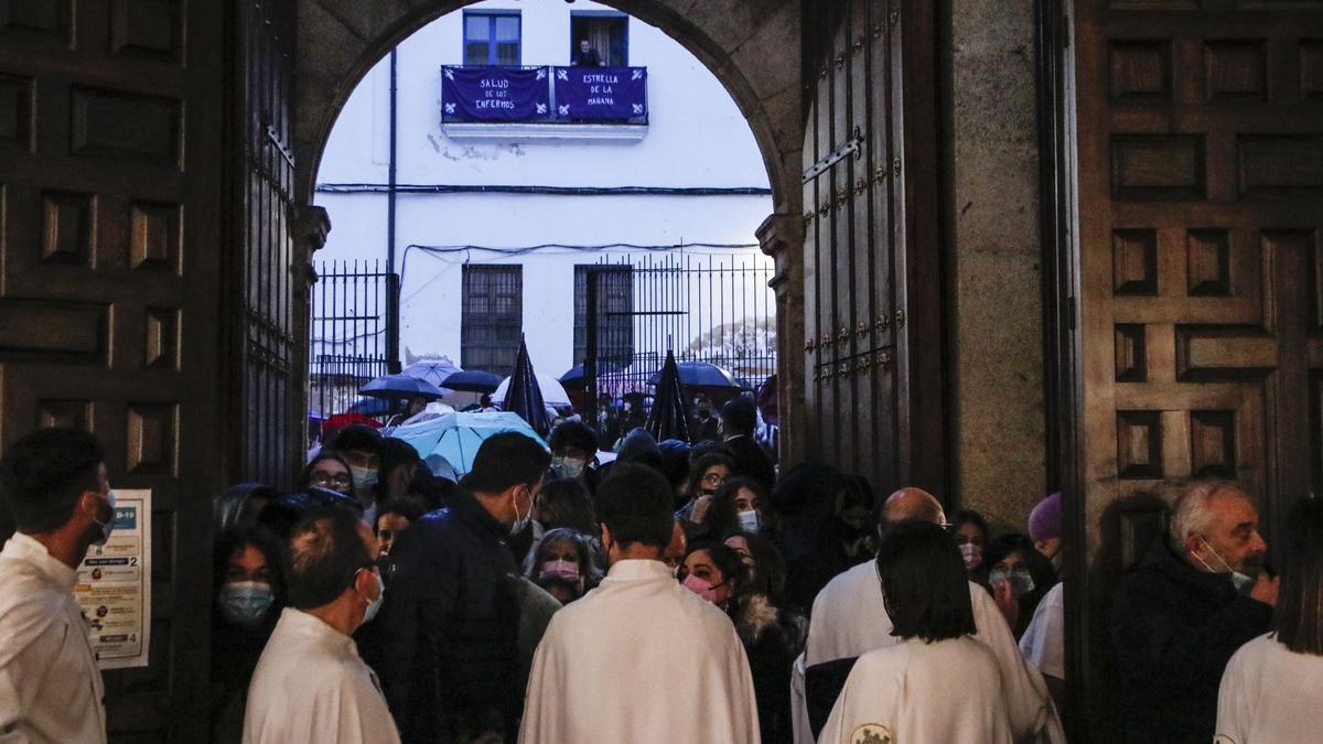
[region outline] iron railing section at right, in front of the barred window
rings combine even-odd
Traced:
[[[574,356],[586,398],[646,404],[665,361],[708,361],[745,391],[777,372],[774,266],[759,254],[622,256],[576,271]],[[642,413],[642,412],[640,412]]]

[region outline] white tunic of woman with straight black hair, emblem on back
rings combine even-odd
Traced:
[[[818,744],[861,741],[1011,744],[996,657],[968,635],[859,657]]]

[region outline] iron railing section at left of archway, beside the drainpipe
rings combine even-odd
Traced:
[[[318,266],[308,324],[308,420],[337,413],[374,416],[359,388],[400,372],[400,274],[380,261]],[[310,432],[316,438],[316,432]]]

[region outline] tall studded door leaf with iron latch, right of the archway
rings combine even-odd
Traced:
[[[810,457],[943,494],[933,4],[804,4]]]

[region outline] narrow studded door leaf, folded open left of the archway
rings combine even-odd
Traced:
[[[307,380],[306,271],[295,259],[294,3],[234,7],[235,238],[230,339],[238,387],[237,478],[291,487],[303,465]],[[315,40],[314,40],[315,42]],[[296,265],[298,263],[298,265]]]

